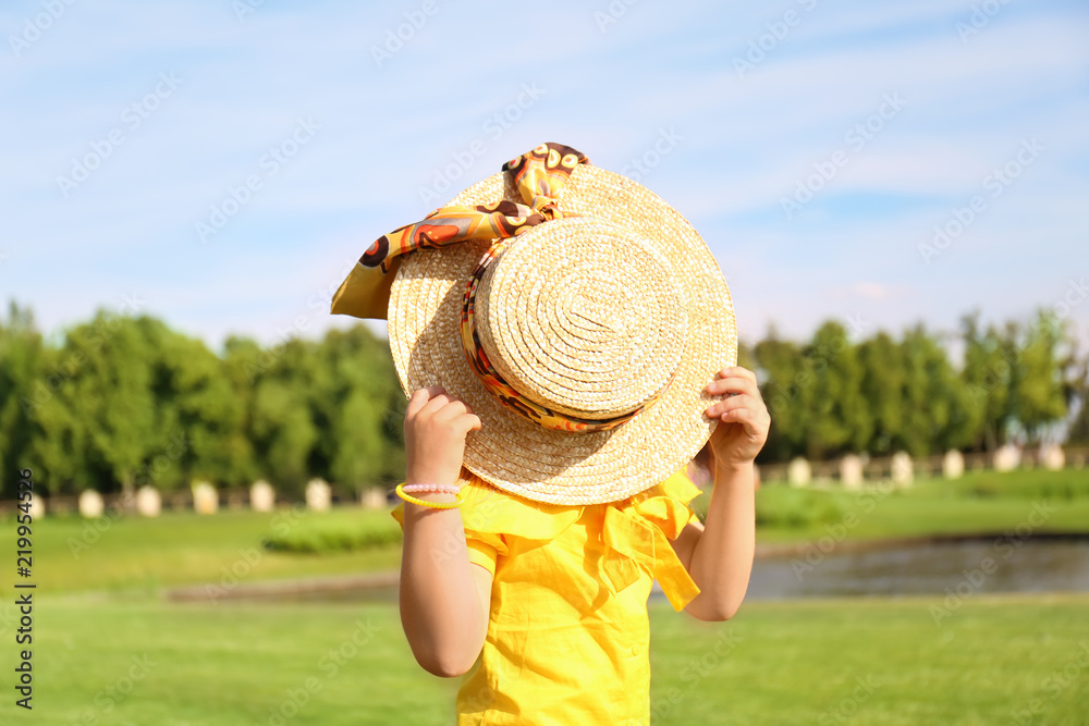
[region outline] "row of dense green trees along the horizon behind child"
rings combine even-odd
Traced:
[[[957,365],[922,324],[856,341],[830,320],[807,342],[772,328],[742,345],[772,415],[758,460],[991,451],[1063,431],[1089,442],[1089,356],[1064,320],[1040,310],[984,330],[976,312],[956,340]],[[404,470],[404,409],[388,344],[362,323],[272,346],[235,336],[217,354],[147,316],[99,310],[56,342],[14,303],[0,317],[4,499],[16,467],[48,494],[198,478],[264,478],[287,496],[313,477],[389,484]]]

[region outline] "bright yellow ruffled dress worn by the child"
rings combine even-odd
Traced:
[[[469,561],[493,575],[488,635],[457,692],[457,724],[650,723],[658,580],[674,610],[699,594],[668,540],[698,521],[683,471],[620,502],[533,502],[474,477],[461,506]],[[393,517],[404,528],[404,503]]]

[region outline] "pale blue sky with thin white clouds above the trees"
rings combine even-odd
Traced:
[[[352,324],[375,237],[554,140],[693,222],[743,339],[1089,339],[1084,2],[70,1],[0,11],[0,299],[53,335]]]

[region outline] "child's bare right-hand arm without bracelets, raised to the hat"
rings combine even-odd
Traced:
[[[700,620],[727,620],[748,590],[756,550],[756,465],[768,439],[771,417],[756,376],[727,368],[707,386],[711,394],[734,394],[707,410],[720,419],[711,434],[714,489],[707,522],[682,530],[673,549],[700,592],[685,612]]]

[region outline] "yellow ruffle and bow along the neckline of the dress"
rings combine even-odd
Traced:
[[[640,570],[658,580],[677,612],[700,592],[670,544],[686,525],[698,521],[689,502],[700,490],[683,469],[626,500],[583,506],[534,502],[477,477],[463,480],[463,491],[466,538],[494,547],[499,556],[510,553],[504,536],[551,540],[575,524],[587,507],[598,507],[604,544],[601,571],[613,594],[636,582]],[[404,502],[391,514],[404,529]]]

